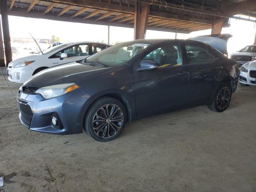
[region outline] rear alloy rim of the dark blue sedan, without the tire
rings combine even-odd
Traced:
[[[230,89],[227,87],[223,87],[217,96],[217,106],[220,110],[227,108],[230,102],[231,94]]]

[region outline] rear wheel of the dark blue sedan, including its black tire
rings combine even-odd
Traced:
[[[224,96],[222,96],[221,94],[224,94]],[[212,101],[208,104],[208,108],[212,111],[223,112],[228,108],[231,97],[232,97],[232,89],[230,85],[227,83],[222,83],[220,84],[216,93],[214,94]]]

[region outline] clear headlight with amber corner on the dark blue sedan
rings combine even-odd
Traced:
[[[79,88],[79,86],[75,83],[65,83],[42,87],[38,89],[36,93],[41,94],[45,99],[50,99],[71,92],[77,88]]]

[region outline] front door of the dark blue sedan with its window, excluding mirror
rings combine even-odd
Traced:
[[[180,46],[166,44],[149,52],[142,60],[153,60],[154,70],[138,71],[134,65],[136,112],[146,116],[184,106],[188,92],[188,70],[182,64]]]

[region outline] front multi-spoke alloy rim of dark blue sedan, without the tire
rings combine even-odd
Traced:
[[[124,123],[122,109],[116,104],[106,104],[100,107],[92,119],[94,133],[100,138],[110,138],[116,135]]]

